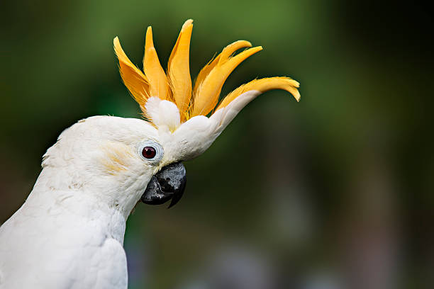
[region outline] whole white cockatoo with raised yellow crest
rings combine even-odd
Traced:
[[[179,201],[182,161],[203,153],[235,115],[270,89],[300,98],[288,77],[255,79],[219,103],[223,83],[262,50],[240,40],[189,72],[193,24],[182,26],[167,72],[149,27],[143,72],[114,38],[124,84],[145,120],[94,116],[67,128],[43,157],[42,171],[21,208],[0,227],[0,288],[127,288],[123,236],[135,205]],[[207,116],[209,115],[209,116]]]

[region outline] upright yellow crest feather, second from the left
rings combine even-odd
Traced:
[[[157,51],[152,41],[152,28],[146,30],[145,56],[143,57],[143,71],[150,83],[150,96],[157,96],[162,100],[167,99],[169,86],[164,69],[158,60]]]

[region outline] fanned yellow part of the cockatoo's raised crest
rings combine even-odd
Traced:
[[[223,98],[223,101],[218,105],[222,86],[229,74],[247,57],[262,50],[262,47],[252,47],[250,42],[245,40],[233,42],[201,69],[194,87],[192,87],[189,69],[192,29],[193,21],[189,19],[182,26],[177,42],[170,54],[167,74],[158,60],[150,26],[146,31],[143,72],[128,59],[119,39],[114,38],[113,44],[119,60],[119,70],[123,83],[140,105],[144,115],[147,115],[145,104],[151,96],[175,103],[182,122],[196,115],[208,115],[214,108],[217,110],[224,108],[240,94],[252,90],[265,92],[271,89],[284,89],[299,101],[300,94],[297,89],[299,83],[297,81],[289,77],[270,77],[255,79],[238,87]],[[237,50],[247,47],[251,48],[238,53],[238,55],[233,55]]]

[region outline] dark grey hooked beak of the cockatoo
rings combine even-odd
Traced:
[[[148,205],[160,205],[172,199],[170,208],[181,199],[186,183],[184,165],[181,162],[169,164],[152,176],[141,200]]]

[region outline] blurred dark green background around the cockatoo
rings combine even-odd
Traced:
[[[181,202],[138,205],[130,288],[433,288],[433,14],[414,2],[1,1],[0,224],[57,135],[91,115],[139,117],[133,62],[152,25],[165,66],[194,19],[191,74],[230,42],[265,49],[255,77],[301,82],[250,103],[198,159]]]

